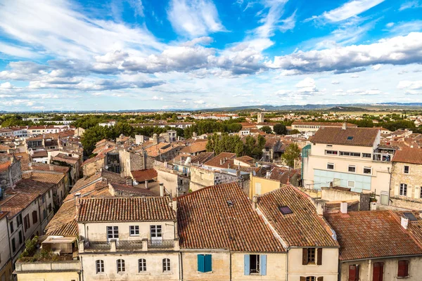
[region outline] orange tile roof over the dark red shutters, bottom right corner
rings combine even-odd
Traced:
[[[328,214],[326,220],[337,234],[342,261],[422,255],[392,211],[350,211]]]

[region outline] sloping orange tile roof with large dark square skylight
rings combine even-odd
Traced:
[[[338,247],[328,223],[316,214],[311,198],[292,185],[265,193],[258,208],[289,247]],[[287,206],[293,214],[281,214]]]

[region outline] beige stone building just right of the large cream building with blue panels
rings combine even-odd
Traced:
[[[422,149],[402,148],[392,158],[392,206],[422,210]]]

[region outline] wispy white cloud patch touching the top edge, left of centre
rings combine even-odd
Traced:
[[[188,37],[224,31],[211,0],[171,0],[167,15],[173,29]]]

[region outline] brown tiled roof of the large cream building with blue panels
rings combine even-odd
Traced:
[[[373,146],[379,129],[321,127],[312,137],[312,143],[327,143],[332,145]]]

